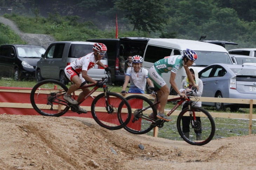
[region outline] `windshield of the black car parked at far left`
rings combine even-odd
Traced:
[[[42,47],[18,47],[17,50],[19,57],[41,57],[45,53]]]

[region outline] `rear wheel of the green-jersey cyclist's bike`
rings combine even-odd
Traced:
[[[124,126],[124,129],[137,135],[148,133],[155,127],[152,120],[148,117],[149,114],[154,113],[153,119],[156,119],[157,110],[155,106],[152,106],[153,102],[142,95],[130,95],[126,99],[132,107],[133,114],[128,125]],[[119,107],[123,106],[120,105]],[[138,111],[142,112],[137,114]]]

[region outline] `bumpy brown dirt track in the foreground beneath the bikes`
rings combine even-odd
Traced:
[[[1,114],[0,125],[1,170],[256,169],[256,135],[193,146],[108,130],[90,118]]]

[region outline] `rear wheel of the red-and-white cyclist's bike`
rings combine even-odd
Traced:
[[[57,80],[43,80],[32,88],[30,101],[39,114],[58,117],[69,110],[63,99],[63,94],[67,91],[68,88]]]

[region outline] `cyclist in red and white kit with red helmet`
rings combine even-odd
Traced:
[[[70,94],[76,91],[78,87],[88,85],[86,81],[95,83],[96,86],[102,87],[103,83],[97,82],[87,75],[87,71],[95,64],[103,67],[106,71],[110,72],[110,69],[106,67],[103,63],[101,63],[102,57],[106,54],[107,47],[102,43],[95,43],[93,45],[93,52],[87,54],[86,56],[80,57],[75,61],[71,62],[70,65],[66,66],[65,74],[67,78],[73,82],[73,84],[68,88],[67,93],[64,95],[63,99],[68,101],[70,104],[77,105],[79,101],[81,101],[89,92],[89,88],[83,88],[82,92],[78,95],[77,101],[74,100]],[[80,73],[82,73],[80,75]],[[87,113],[87,111],[81,107],[79,107],[78,112]]]

